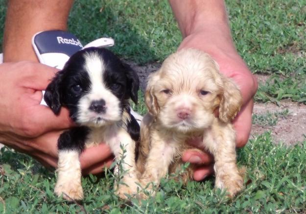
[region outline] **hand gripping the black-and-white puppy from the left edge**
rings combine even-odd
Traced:
[[[32,62],[0,64],[0,142],[49,164],[53,164],[56,145],[44,146],[37,140],[45,139],[44,134],[50,131],[71,125],[67,111],[55,117],[46,106],[39,105],[43,96],[41,90],[56,71]]]

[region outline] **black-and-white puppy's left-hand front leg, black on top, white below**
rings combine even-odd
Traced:
[[[80,136],[81,137],[80,137]],[[87,130],[81,127],[64,132],[58,140],[57,182],[54,192],[66,200],[81,200],[81,165],[79,154],[85,145]]]

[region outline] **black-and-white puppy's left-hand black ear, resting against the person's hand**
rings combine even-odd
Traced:
[[[58,115],[61,110],[61,94],[60,84],[63,79],[63,71],[56,73],[56,76],[52,79],[52,82],[47,86],[44,99],[47,105],[51,108],[55,115]]]

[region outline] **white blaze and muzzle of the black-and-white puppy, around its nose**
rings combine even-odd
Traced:
[[[106,87],[103,80],[105,64],[96,53],[85,55],[84,69],[90,78],[89,93],[80,98],[77,122],[88,126],[102,126],[121,119],[120,101]],[[105,113],[95,113],[89,108],[93,101],[105,100]]]

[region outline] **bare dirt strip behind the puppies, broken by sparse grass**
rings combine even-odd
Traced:
[[[145,89],[146,79],[148,75],[157,71],[160,63],[153,63],[144,66],[138,66],[135,63],[129,62],[132,68],[137,71],[141,90]],[[270,75],[256,74],[259,82],[264,83]],[[255,103],[254,114],[265,115],[267,113],[279,113],[288,109],[288,113],[284,117],[278,117],[277,122],[273,126],[262,126],[260,124],[253,124],[251,138],[257,134],[262,134],[266,131],[271,131],[275,143],[283,142],[286,144],[297,143],[305,141],[306,138],[306,105],[291,102],[289,100],[281,101],[280,105],[274,103]]]

